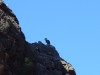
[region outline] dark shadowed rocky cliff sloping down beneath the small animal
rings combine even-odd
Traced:
[[[0,2],[0,75],[76,75],[52,45],[28,43],[16,15]]]

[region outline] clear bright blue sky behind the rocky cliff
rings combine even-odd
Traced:
[[[100,75],[100,0],[4,0],[29,42],[47,37],[77,75]]]

